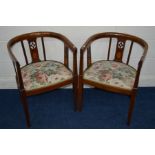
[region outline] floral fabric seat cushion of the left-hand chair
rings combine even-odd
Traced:
[[[42,61],[21,69],[27,91],[48,87],[72,79],[72,72],[57,61]]]

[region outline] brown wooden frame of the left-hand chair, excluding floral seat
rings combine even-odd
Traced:
[[[31,63],[46,61],[47,58],[46,58],[46,50],[45,50],[45,43],[44,43],[45,37],[55,38],[55,39],[58,39],[58,40],[63,42],[63,44],[64,44],[64,65],[69,70],[70,70],[70,68],[69,68],[68,53],[69,53],[69,50],[72,52],[72,54],[73,54],[73,71],[72,71],[73,78],[70,80],[49,86],[49,87],[35,89],[32,91],[26,91],[24,88],[23,79],[21,76],[21,65],[20,65],[18,59],[15,57],[15,55],[12,51],[12,47],[16,43],[21,43],[23,55],[25,58],[25,66],[30,64],[30,63],[28,63],[28,57],[26,55],[26,49],[24,46],[25,40],[28,42],[28,45],[29,45],[29,49],[30,49],[30,53],[31,53],[31,59],[32,59]],[[36,41],[37,38],[41,38],[41,43],[42,43],[42,48],[43,48],[43,60],[40,60],[40,58],[39,58],[37,41]],[[30,127],[30,115],[29,115],[28,103],[27,103],[27,99],[26,99],[28,96],[44,93],[44,92],[51,91],[51,90],[60,88],[62,86],[68,85],[68,84],[72,84],[73,90],[74,90],[74,99],[75,99],[75,103],[76,103],[76,101],[77,101],[77,99],[76,99],[76,96],[77,96],[77,77],[78,77],[77,76],[77,48],[73,45],[73,43],[71,43],[71,41],[69,39],[67,39],[64,35],[59,34],[59,33],[55,33],[55,32],[32,32],[32,33],[23,34],[23,35],[20,35],[20,36],[17,36],[15,38],[11,39],[8,42],[7,47],[8,47],[9,55],[10,55],[10,58],[13,62],[13,66],[15,69],[16,82],[17,82],[17,86],[18,86],[18,89],[20,92],[21,101],[23,103],[24,112],[26,115],[27,127]]]

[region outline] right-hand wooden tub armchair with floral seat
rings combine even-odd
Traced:
[[[106,58],[92,62],[91,53],[92,49],[93,52],[97,52],[97,41],[98,44],[104,44],[102,55]],[[139,76],[147,50],[147,43],[133,35],[115,32],[92,35],[80,50],[77,111],[82,111],[83,85],[87,84],[105,91],[128,95],[130,105],[127,124],[130,125]],[[87,54],[87,66],[84,70],[85,54]]]

